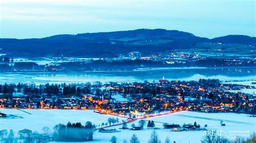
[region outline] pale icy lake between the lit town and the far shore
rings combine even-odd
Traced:
[[[0,83],[85,83],[85,82],[134,82],[167,80],[199,80],[218,78],[220,81],[244,81],[256,79],[256,68],[172,68],[139,69],[133,71],[84,71],[69,73],[0,73]]]

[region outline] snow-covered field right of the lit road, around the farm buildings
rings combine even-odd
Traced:
[[[156,127],[160,129],[157,130],[161,142],[164,142],[166,137],[171,139],[171,142],[200,142],[203,138],[203,132],[201,131],[182,131],[182,132],[171,132],[170,129],[164,129],[163,123],[169,124],[193,124],[194,121],[197,124],[200,124],[201,127],[204,127],[205,124],[208,125],[208,129],[213,130],[222,130],[223,134],[225,132],[226,138],[233,138],[234,136],[246,136],[250,133],[256,131],[256,118],[247,117],[245,114],[236,114],[236,113],[200,113],[200,112],[190,112],[182,111],[171,113],[170,115],[146,118],[145,120],[153,120],[156,124]],[[220,120],[223,120],[226,126],[220,126]],[[136,120],[132,123],[129,123],[128,126],[131,127],[131,124],[138,125],[139,120]],[[119,128],[122,127],[110,127],[110,128]],[[237,133],[239,132],[240,133]],[[152,129],[145,128],[141,131],[131,131],[131,130],[121,130],[118,133],[99,133],[96,132],[93,136],[93,142],[107,142],[115,135],[119,142],[123,142],[124,139],[127,141],[130,140],[131,135],[135,133],[140,142],[147,142],[150,138]],[[242,132],[242,133],[241,133]]]

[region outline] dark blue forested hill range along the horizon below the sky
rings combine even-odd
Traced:
[[[163,29],[54,35],[42,39],[0,39],[0,53],[10,56],[85,56],[113,57],[137,51],[164,52],[190,49],[198,43],[231,43],[256,45],[255,37],[227,35],[214,39],[191,33]]]

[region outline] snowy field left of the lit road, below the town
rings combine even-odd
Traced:
[[[85,125],[86,121],[91,121],[92,124],[101,125],[107,122],[107,118],[117,118],[111,115],[101,115],[93,112],[93,110],[43,110],[43,109],[22,109],[28,113],[19,111],[17,109],[0,109],[0,112],[7,115],[15,115],[23,118],[0,118],[0,130],[13,129],[14,131],[23,130],[24,128],[42,132],[44,126],[52,129],[57,124],[67,124],[80,122]],[[126,120],[126,118],[119,118],[119,121]]]

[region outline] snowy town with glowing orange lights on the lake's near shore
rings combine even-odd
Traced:
[[[256,97],[232,90],[254,86],[224,84],[219,80],[2,84],[0,107],[17,109],[72,109],[151,117],[178,111],[240,112],[255,116]]]

